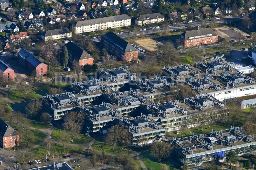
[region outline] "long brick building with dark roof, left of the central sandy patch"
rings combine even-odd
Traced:
[[[138,50],[111,31],[101,37],[101,45],[120,60],[130,62],[138,58]]]

